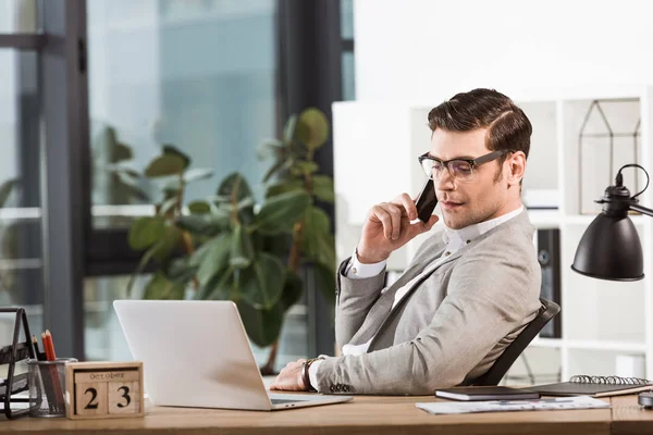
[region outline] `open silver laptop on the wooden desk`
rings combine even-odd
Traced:
[[[232,301],[116,300],[113,307],[157,406],[273,411],[353,399],[270,394]]]

